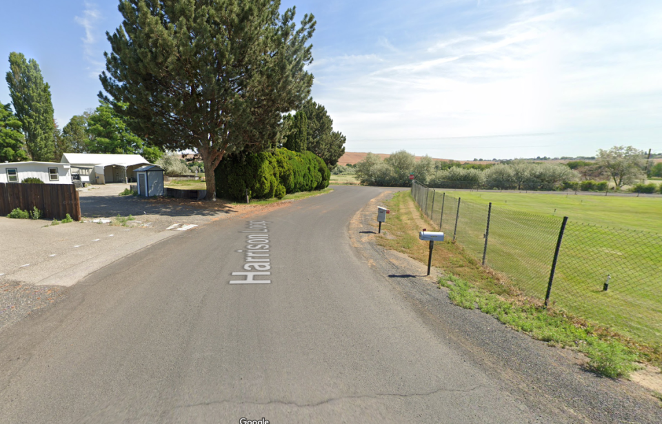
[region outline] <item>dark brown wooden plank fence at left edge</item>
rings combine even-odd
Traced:
[[[81,201],[73,184],[0,183],[0,216],[15,208],[32,211],[37,206],[43,218],[81,220]]]

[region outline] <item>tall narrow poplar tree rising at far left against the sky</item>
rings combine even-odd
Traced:
[[[23,123],[26,147],[33,161],[52,161],[55,154],[55,125],[50,85],[43,81],[39,64],[22,53],[9,54],[9,94],[16,116]]]

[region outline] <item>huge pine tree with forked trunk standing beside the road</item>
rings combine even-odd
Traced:
[[[314,18],[272,0],[124,0],[108,34],[101,83],[140,137],[169,150],[195,149],[207,199],[225,154],[271,147],[281,114],[310,93],[307,45]],[[126,103],[126,109],[118,108]]]

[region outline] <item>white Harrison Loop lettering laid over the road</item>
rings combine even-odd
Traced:
[[[246,237],[245,264],[246,272],[232,272],[232,275],[243,275],[245,280],[232,280],[230,284],[270,284],[271,280],[256,280],[255,276],[271,275],[271,261],[269,254],[269,228],[268,221],[248,221],[248,230],[251,233]],[[241,252],[241,250],[238,250]]]

